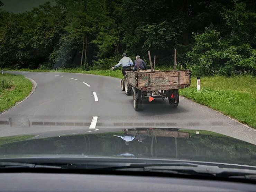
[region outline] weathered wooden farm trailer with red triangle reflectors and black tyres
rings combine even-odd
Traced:
[[[133,95],[134,109],[141,110],[142,99],[168,98],[172,108],[179,105],[179,89],[190,86],[190,70],[174,71],[126,71],[121,80],[121,89]]]

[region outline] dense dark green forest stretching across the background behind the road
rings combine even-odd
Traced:
[[[0,4],[0,6],[4,6]],[[126,52],[193,74],[256,73],[256,1],[54,0],[0,7],[0,68],[109,69]],[[148,63],[148,62],[147,62]]]

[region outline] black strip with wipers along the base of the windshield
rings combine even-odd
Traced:
[[[131,171],[131,172],[158,172],[167,174],[200,175],[226,177],[230,179],[246,179],[256,181],[256,170],[241,168],[222,168],[212,165],[200,165],[194,163],[167,163],[167,164],[144,164],[144,163],[81,163],[81,164],[34,164],[0,162],[3,168],[44,168],[66,170],[93,170],[93,171]]]

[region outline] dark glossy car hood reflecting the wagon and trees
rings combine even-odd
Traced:
[[[21,140],[24,138],[25,140]],[[1,158],[86,155],[182,159],[255,166],[255,154],[256,146],[245,141],[210,131],[185,129],[138,128],[32,139],[26,139],[26,136],[8,139],[0,137]]]

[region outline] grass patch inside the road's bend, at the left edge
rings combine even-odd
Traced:
[[[0,112],[27,97],[31,89],[32,83],[22,75],[0,74]]]

